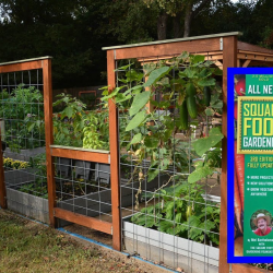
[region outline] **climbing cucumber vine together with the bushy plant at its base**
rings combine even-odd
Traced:
[[[209,136],[198,140],[191,139],[191,133],[194,126],[222,112],[222,90],[215,79],[222,71],[213,62],[205,61],[204,56],[188,52],[157,63],[145,63],[144,73],[132,66],[117,70],[119,86],[110,94],[105,90],[103,100],[114,99],[119,109],[129,114],[126,132],[132,138],[127,151],[134,164],[131,176],[140,181],[136,209],[141,183],[145,179],[150,182],[159,174],[168,175],[169,179],[151,194],[150,201],[154,200],[154,204],[142,209],[131,221],[171,235],[218,245],[219,206],[204,200],[204,187],[199,181],[221,167],[223,134],[221,128],[213,128]],[[152,107],[147,108],[147,104]],[[178,138],[179,131],[191,141]],[[146,171],[142,163],[147,158],[151,164]],[[194,165],[193,158],[199,158]]]

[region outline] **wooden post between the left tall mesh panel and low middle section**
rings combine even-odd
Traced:
[[[51,227],[56,227],[54,215],[54,207],[56,206],[55,166],[50,153],[50,145],[54,144],[51,59],[43,60],[43,82],[49,223]]]

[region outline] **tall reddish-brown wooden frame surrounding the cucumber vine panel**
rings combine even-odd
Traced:
[[[269,59],[264,58],[265,54],[272,54],[273,50],[261,49],[261,56],[257,57],[258,47],[240,43],[237,40],[237,36],[241,33],[223,33],[216,35],[205,35],[197,36],[189,38],[180,38],[173,40],[162,40],[162,41],[152,41],[152,43],[142,43],[134,45],[124,45],[124,46],[114,46],[114,47],[104,47],[103,50],[107,50],[107,75],[108,75],[108,85],[109,91],[111,92],[116,86],[116,73],[117,69],[116,61],[122,59],[133,59],[136,58],[140,61],[153,61],[157,59],[169,58],[181,54],[182,51],[189,51],[190,54],[205,55],[207,60],[214,60],[217,66],[223,68],[223,127],[222,132],[224,134],[223,144],[222,144],[222,181],[221,181],[221,228],[219,228],[219,273],[258,273],[266,272],[261,269],[249,266],[246,264],[228,264],[227,263],[227,68],[235,68],[240,66],[240,61],[244,62],[244,66],[248,66],[251,60],[266,61]],[[238,50],[238,45],[241,50]],[[252,50],[250,50],[251,48]],[[251,57],[246,55],[246,51],[252,51]],[[248,52],[248,51],[247,51]],[[259,54],[258,54],[259,55]],[[252,58],[252,59],[249,59]],[[270,59],[273,61],[273,58]],[[117,120],[117,109],[115,103],[109,99],[109,115],[112,115],[112,122]],[[117,121],[116,121],[117,122]],[[116,128],[116,123],[115,123]],[[117,128],[116,128],[117,129]],[[115,135],[111,138],[117,138],[117,132],[115,130]],[[114,141],[112,141],[114,142]],[[111,151],[111,153],[116,153]],[[118,158],[118,156],[115,156]],[[115,163],[116,168],[117,163]],[[118,166],[117,166],[118,167]],[[112,167],[114,168],[114,167]],[[112,169],[111,169],[112,171]],[[115,183],[115,190],[118,185]],[[118,200],[116,200],[118,201]],[[120,223],[116,227],[118,230],[120,228]],[[119,229],[120,230],[120,229]],[[120,235],[119,235],[120,236]],[[120,240],[120,239],[119,239]],[[116,241],[118,242],[118,241]]]

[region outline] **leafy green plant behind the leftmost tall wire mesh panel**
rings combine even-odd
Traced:
[[[12,151],[40,146],[45,140],[44,99],[34,86],[19,85],[10,94],[3,91],[0,96],[0,117],[5,120],[5,141]],[[28,129],[31,119],[40,123]],[[38,130],[37,130],[38,129]]]

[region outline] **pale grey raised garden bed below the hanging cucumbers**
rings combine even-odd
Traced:
[[[219,249],[135,225],[123,218],[126,251],[185,272],[218,273]]]

